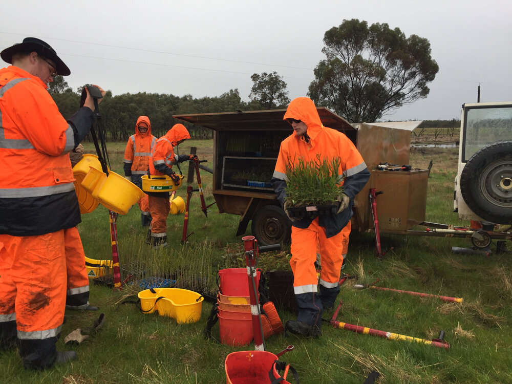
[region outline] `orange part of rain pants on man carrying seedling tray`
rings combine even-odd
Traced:
[[[322,255],[321,279],[327,283],[337,284],[343,264],[343,240],[344,230],[327,238],[325,228],[318,225],[318,218],[314,219],[308,228],[291,227],[290,266],[293,271],[295,294],[316,292],[314,262],[317,242]]]

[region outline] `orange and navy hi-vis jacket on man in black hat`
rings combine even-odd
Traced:
[[[0,234],[34,236],[80,223],[68,152],[76,126],[91,126],[93,112],[81,108],[66,121],[30,73],[0,70]]]

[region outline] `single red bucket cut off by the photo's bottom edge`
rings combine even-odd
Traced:
[[[268,384],[268,373],[273,371],[274,377],[281,377],[272,367],[278,356],[267,351],[240,351],[226,356],[226,384]],[[289,384],[281,380],[281,384]]]

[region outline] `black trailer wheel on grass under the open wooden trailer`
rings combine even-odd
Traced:
[[[265,205],[252,217],[252,234],[261,245],[286,244],[291,239],[291,222],[277,205]]]

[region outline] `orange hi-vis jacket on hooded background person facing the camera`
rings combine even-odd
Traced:
[[[139,131],[139,124],[146,123],[147,132]],[[151,134],[151,123],[147,116],[139,116],[135,124],[135,135],[130,136],[124,150],[124,175],[145,175],[150,165],[151,152],[157,138]]]

